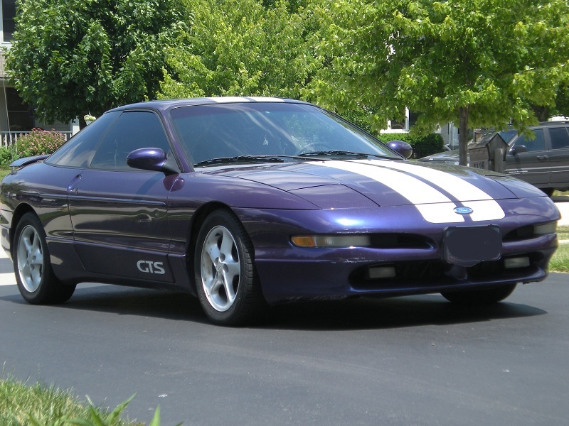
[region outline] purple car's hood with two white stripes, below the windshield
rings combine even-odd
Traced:
[[[478,203],[542,197],[543,192],[519,180],[488,170],[393,160],[325,160],[216,168],[222,174],[257,182],[298,195],[323,208],[382,207]],[[363,197],[361,197],[363,196]],[[328,202],[325,202],[328,200]]]

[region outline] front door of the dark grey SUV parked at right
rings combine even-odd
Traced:
[[[549,184],[549,155],[543,129],[533,129],[533,138],[521,134],[510,145],[506,154],[504,170],[507,174],[533,185]],[[516,147],[525,146],[526,152],[516,152]],[[518,148],[519,149],[519,148]]]

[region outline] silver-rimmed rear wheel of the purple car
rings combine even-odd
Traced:
[[[26,302],[63,303],[73,295],[75,285],[63,285],[53,273],[46,232],[35,214],[24,214],[16,226],[12,255],[18,290]]]

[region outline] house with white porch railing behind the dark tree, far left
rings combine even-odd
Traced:
[[[11,47],[16,0],[0,0],[0,6],[0,44],[4,50]],[[55,129],[71,136],[79,131],[79,122],[48,124],[37,119],[33,108],[23,102],[14,85],[10,84],[4,54],[0,51],[0,144],[6,146],[34,128]]]

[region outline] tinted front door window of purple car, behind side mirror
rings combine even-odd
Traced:
[[[127,155],[139,148],[170,151],[161,121],[153,112],[125,111],[119,116],[97,148],[90,168],[129,170]]]

